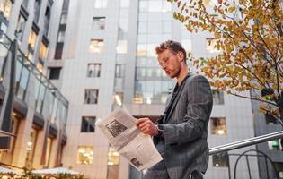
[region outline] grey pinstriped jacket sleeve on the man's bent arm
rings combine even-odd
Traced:
[[[209,115],[212,109],[212,94],[208,80],[200,75],[194,76],[186,84],[186,115],[180,124],[163,124],[165,146],[179,145],[207,136]],[[173,117],[173,116],[172,116]]]

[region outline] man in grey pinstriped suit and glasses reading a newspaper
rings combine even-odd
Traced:
[[[139,118],[141,132],[154,136],[164,158],[146,171],[146,179],[201,179],[208,167],[208,120],[212,94],[208,80],[193,75],[181,44],[168,40],[155,48],[158,63],[177,83],[168,98],[163,117],[154,124]]]

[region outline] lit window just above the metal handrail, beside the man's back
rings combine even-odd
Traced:
[[[211,117],[210,132],[211,134],[215,134],[215,135],[226,135],[226,118]]]

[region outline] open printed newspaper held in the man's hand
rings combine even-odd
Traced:
[[[136,120],[124,109],[119,108],[103,117],[96,125],[102,130],[111,146],[141,171],[154,166],[163,158],[155,149],[151,137],[137,129]]]

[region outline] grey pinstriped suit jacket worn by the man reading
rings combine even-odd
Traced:
[[[182,89],[166,112],[166,120],[161,123],[164,138],[155,137],[154,141],[170,178],[187,179],[191,172],[197,170],[204,174],[208,167],[207,138],[212,93],[205,77],[191,73],[179,88]]]

